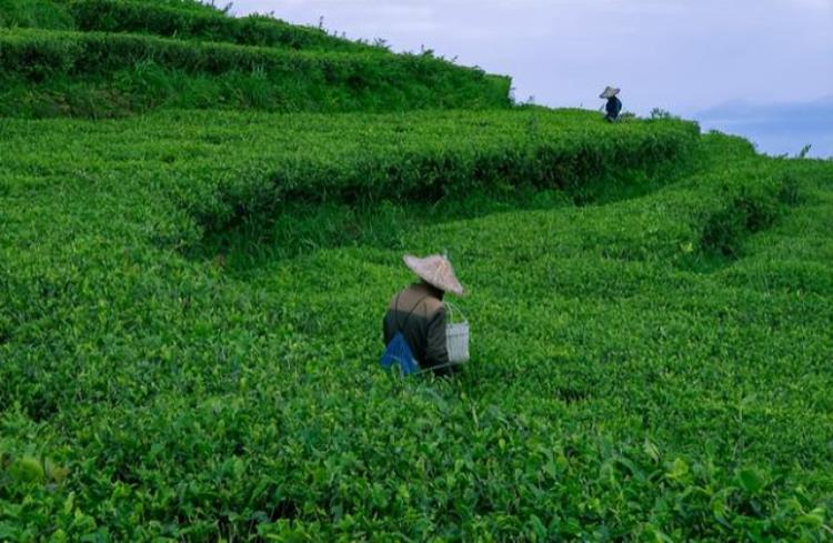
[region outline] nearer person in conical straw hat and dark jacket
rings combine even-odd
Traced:
[[[390,345],[401,332],[421,369],[431,369],[435,375],[450,375],[454,370],[449,363],[445,345],[445,304],[442,299],[446,292],[463,295],[463,285],[454,276],[446,257],[433,254],[420,259],[409,254],[403,260],[421,281],[391,300],[382,326],[384,344]]]

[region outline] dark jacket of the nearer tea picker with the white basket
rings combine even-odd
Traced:
[[[382,322],[384,344],[389,344],[397,332],[405,336],[420,368],[446,365],[449,352],[445,346],[445,304],[442,292],[425,283],[412,284],[391,300]],[[438,369],[436,373],[448,373]]]

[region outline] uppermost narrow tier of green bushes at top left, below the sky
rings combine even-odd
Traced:
[[[387,52],[384,49],[331,37],[319,29],[288,24],[263,16],[229,17],[178,3],[140,0],[70,0],[69,10],[84,31],[150,33],[167,38],[230,42],[241,46]]]

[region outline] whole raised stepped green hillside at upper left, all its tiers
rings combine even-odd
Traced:
[[[509,78],[194,2],[4,0],[0,114],[505,108]],[[197,7],[194,7],[197,6]],[[1,7],[1,6],[0,6]]]

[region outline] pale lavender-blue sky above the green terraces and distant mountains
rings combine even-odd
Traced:
[[[217,2],[221,4],[221,1]],[[833,94],[833,0],[237,0],[232,12],[433,49],[510,74],[519,100],[692,114]]]

